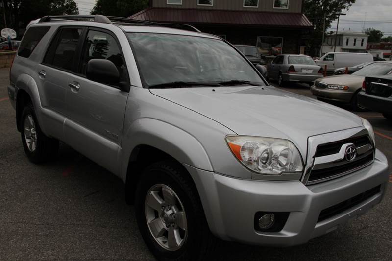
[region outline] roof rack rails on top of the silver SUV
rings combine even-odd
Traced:
[[[193,27],[189,24],[172,24],[172,23],[156,23],[150,22],[146,20],[136,20],[130,19],[125,17],[117,17],[117,16],[103,16],[103,15],[55,15],[55,16],[44,16],[39,20],[38,23],[49,22],[52,20],[71,20],[71,21],[92,21],[98,23],[105,23],[105,24],[143,24],[143,25],[150,25],[150,26],[162,26],[162,27],[170,27],[170,28],[177,28],[183,29],[188,31],[194,31],[201,33],[200,30]]]

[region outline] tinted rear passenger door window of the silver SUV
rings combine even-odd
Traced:
[[[53,39],[44,63],[56,68],[73,71],[81,28],[63,28]]]

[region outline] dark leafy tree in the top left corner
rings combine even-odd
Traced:
[[[73,0],[4,0],[1,13],[4,14],[8,28],[13,28],[18,38],[31,20],[46,15],[78,14]],[[0,19],[1,28],[5,27],[4,18]],[[21,30],[20,30],[21,28]]]

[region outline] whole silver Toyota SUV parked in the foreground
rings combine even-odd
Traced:
[[[209,258],[217,238],[302,244],[387,188],[367,120],[268,85],[191,26],[44,17],[10,74],[27,157],[52,159],[61,141],[120,177],[161,260]]]

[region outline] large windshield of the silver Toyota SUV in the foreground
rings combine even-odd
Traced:
[[[265,85],[241,54],[222,40],[159,33],[128,33],[128,37],[148,87],[219,86],[234,80],[233,85],[245,81]]]

